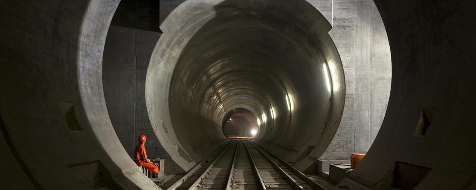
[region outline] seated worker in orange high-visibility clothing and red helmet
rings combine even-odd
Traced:
[[[159,167],[157,167],[156,163],[150,161],[149,158],[147,158],[147,153],[145,152],[145,146],[144,146],[146,141],[147,141],[147,137],[145,135],[139,136],[139,144],[137,144],[134,151],[134,162],[138,166],[142,166],[148,169],[149,171],[151,171],[152,177],[155,178],[157,177],[159,173]]]

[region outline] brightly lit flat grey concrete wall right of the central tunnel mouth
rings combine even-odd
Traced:
[[[390,95],[390,47],[372,0],[308,0],[332,24],[346,77],[346,103],[339,130],[321,159],[366,153],[382,124]]]

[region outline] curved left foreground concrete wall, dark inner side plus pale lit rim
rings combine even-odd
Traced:
[[[37,190],[158,188],[124,151],[104,101],[102,54],[118,3],[0,2],[0,116],[8,133],[2,129],[2,139],[10,145],[0,151],[12,152],[20,165],[2,153],[1,175],[15,170],[28,177],[2,178],[9,184]],[[60,102],[74,105],[82,131],[68,129]]]

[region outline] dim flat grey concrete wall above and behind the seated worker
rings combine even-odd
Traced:
[[[137,138],[147,136],[150,158],[169,158],[152,130],[145,106],[145,76],[160,33],[111,26],[104,49],[103,85],[119,141],[132,157]],[[157,152],[156,152],[157,148]]]

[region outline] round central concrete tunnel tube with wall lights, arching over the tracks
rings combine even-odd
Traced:
[[[273,107],[275,122],[262,125],[256,141],[298,168],[324,152],[342,117],[344,73],[330,24],[307,1],[187,0],[161,30],[147,107],[159,141],[184,170],[224,145],[221,121],[237,107],[268,118]],[[308,146],[316,148],[299,157]]]

